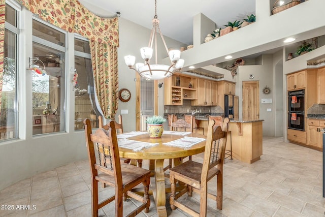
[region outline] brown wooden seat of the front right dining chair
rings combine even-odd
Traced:
[[[195,161],[186,161],[183,164],[180,164],[176,167],[171,168],[170,174],[178,173],[181,176],[186,177],[186,179],[189,179],[190,182],[194,183],[194,185],[200,186],[202,166],[203,165],[201,163],[198,163]],[[211,168],[209,170],[207,179],[210,180],[212,177],[214,177],[218,173],[219,173],[219,170],[217,168],[215,168],[215,167]],[[192,186],[194,186],[194,185],[192,185]]]

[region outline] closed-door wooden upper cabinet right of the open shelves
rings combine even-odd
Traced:
[[[198,78],[198,100],[192,101],[193,106],[216,105],[216,82]]]

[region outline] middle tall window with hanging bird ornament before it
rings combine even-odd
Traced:
[[[30,65],[45,70],[32,72],[32,134],[65,131],[65,53],[66,35],[43,21],[32,21]]]

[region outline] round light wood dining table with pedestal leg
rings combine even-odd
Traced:
[[[186,135],[188,137],[206,138],[205,135],[191,133]],[[154,160],[154,177],[155,177],[155,204],[158,216],[167,216],[166,210],[166,186],[164,174],[164,160],[174,159],[174,165],[182,163],[182,159],[204,152],[206,141],[197,143],[190,148],[179,148],[175,146],[164,145],[163,143],[171,142],[180,139],[184,136],[164,134],[161,138],[149,138],[148,134],[142,134],[127,138],[128,140],[135,140],[149,143],[159,143],[158,145],[142,149],[140,151],[133,151],[132,149],[119,147],[120,158],[129,158],[137,160]]]

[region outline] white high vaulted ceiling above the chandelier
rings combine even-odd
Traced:
[[[80,0],[80,3],[94,14],[98,8],[107,11],[107,17],[118,11],[122,18],[152,28],[154,0]],[[228,21],[255,14],[255,0],[157,0],[161,32],[187,45],[193,42],[193,17],[199,13],[213,20],[217,27],[223,27]]]

